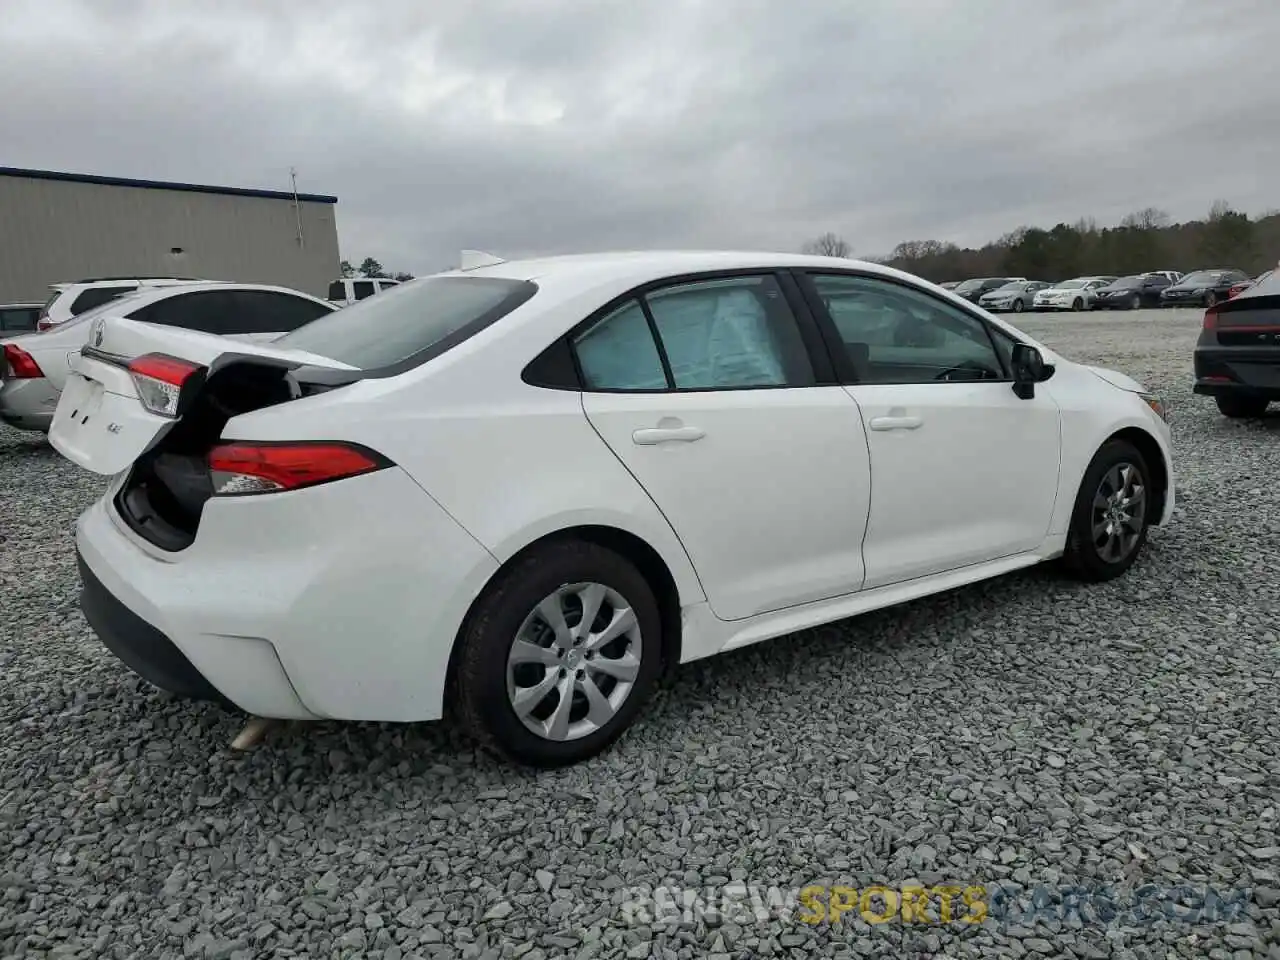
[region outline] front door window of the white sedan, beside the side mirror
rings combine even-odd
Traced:
[[[886,280],[819,275],[813,283],[859,383],[1005,379],[977,317]]]

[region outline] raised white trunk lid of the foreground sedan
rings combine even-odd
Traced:
[[[164,301],[168,302],[168,301]],[[68,357],[70,372],[58,399],[50,443],[95,474],[113,476],[157,443],[178,420],[150,412],[138,398],[129,361],[148,353],[189,361],[215,371],[227,357],[260,357],[283,366],[352,370],[328,357],[268,344],[116,317],[91,321],[90,344]]]

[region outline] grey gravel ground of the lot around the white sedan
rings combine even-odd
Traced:
[[[439,726],[230,753],[236,718],[145,687],[79,614],[100,484],[0,428],[0,956],[1276,960],[1280,416],[1192,397],[1192,311],[1024,325],[1174,407],[1180,507],[1126,577],[1038,570],[691,664],[608,755],[538,776]],[[989,916],[628,908],[730,881],[987,884]],[[1234,915],[1187,905],[1206,886]]]

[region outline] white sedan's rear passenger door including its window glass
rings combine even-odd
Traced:
[[[588,419],[671,522],[721,620],[863,584],[867,438],[790,284],[672,282],[573,338]]]

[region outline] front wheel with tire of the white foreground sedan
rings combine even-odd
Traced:
[[[1062,556],[1080,580],[1112,580],[1138,559],[1147,543],[1149,476],[1147,461],[1126,440],[1108,440],[1094,454],[1075,495]]]

